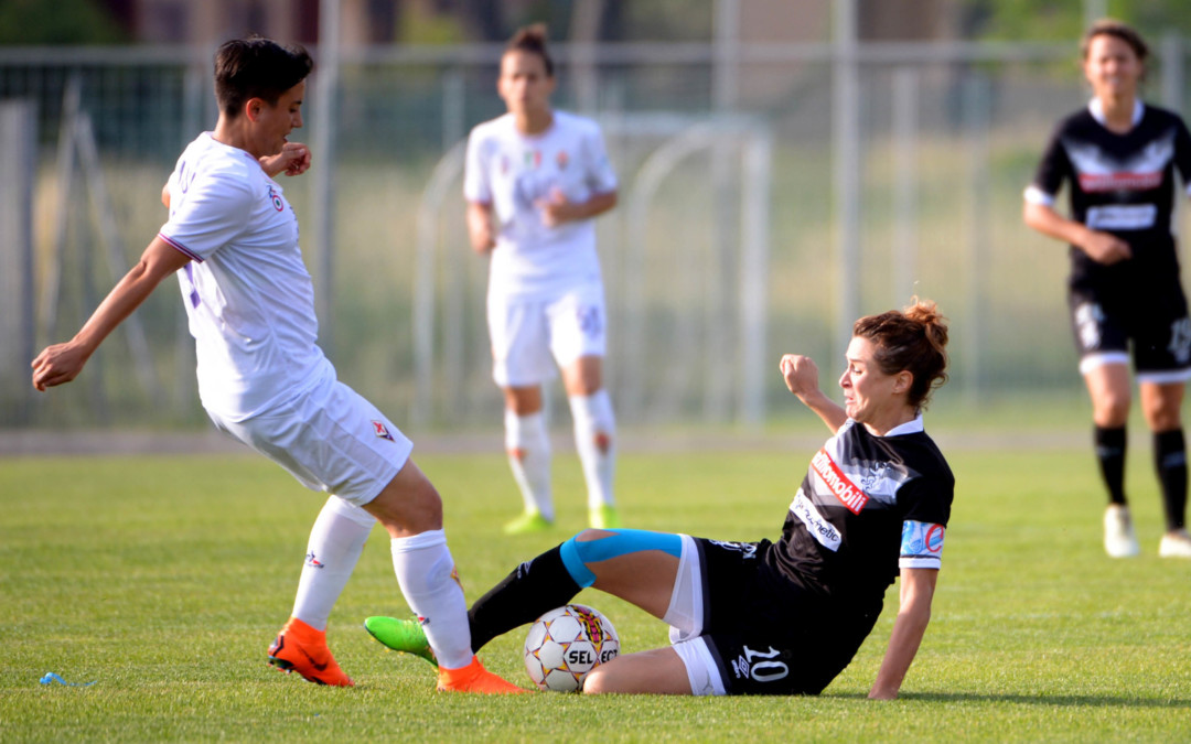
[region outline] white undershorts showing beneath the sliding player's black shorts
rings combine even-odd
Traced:
[[[727,695],[719,667],[703,638],[703,564],[690,534],[682,538],[682,555],[674,577],[674,592],[663,621],[669,623],[671,648],[686,667],[692,695]]]

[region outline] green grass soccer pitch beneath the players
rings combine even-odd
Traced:
[[[423,661],[361,627],[405,612],[380,527],[331,617],[353,689],[266,664],[322,499],[250,456],[0,459],[0,739],[26,740],[1191,740],[1191,563],[1160,561],[1148,451],[1130,487],[1143,555],[1100,548],[1086,448],[948,452],[958,479],[934,617],[896,702],[865,699],[897,607],[817,698],[671,699],[434,692]],[[629,526],[774,537],[811,448],[628,452]],[[560,525],[505,538],[517,505],[490,455],[428,455],[474,600],[582,527],[579,468],[560,457]],[[586,590],[624,650],[666,643],[644,613]],[[522,633],[481,651],[529,687]],[[46,673],[68,687],[40,684]]]

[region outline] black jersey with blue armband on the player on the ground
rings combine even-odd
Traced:
[[[900,567],[939,568],[954,493],[921,418],[885,437],[849,419],[811,459],[766,565],[836,608],[879,611]]]

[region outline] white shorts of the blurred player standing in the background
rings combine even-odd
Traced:
[[[488,293],[492,379],[500,387],[541,384],[582,356],[604,356],[604,287],[592,282],[549,300]]]

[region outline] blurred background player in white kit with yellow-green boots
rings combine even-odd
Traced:
[[[616,419],[601,380],[606,313],[593,220],[616,206],[616,174],[599,126],[550,108],[555,77],[544,26],[509,42],[497,87],[509,112],[472,130],[463,195],[472,246],[492,257],[493,379],[505,393],[505,449],[525,504],[505,532],[554,521],[542,383],[555,363],[574,419],[588,521],[616,527]]]

